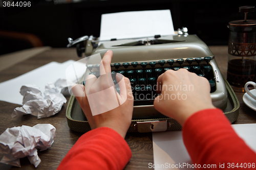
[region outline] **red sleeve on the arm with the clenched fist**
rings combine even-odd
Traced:
[[[228,163],[256,163],[256,154],[236,134],[220,109],[202,110],[190,116],[183,126],[183,141],[194,164],[216,164],[220,168],[224,163],[227,168]]]

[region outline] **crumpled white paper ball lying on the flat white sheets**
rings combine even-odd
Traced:
[[[44,95],[42,95],[39,87],[35,85],[22,86],[20,94],[24,96],[23,106],[15,108],[12,117],[32,114],[37,118],[42,118],[58,113],[62,105],[67,102],[62,94],[67,94],[67,89],[67,81],[64,79],[58,79],[54,84],[46,84]]]

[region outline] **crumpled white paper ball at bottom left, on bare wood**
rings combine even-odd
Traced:
[[[30,163],[37,167],[41,162],[37,149],[44,151],[50,148],[55,131],[50,124],[6,129],[0,135],[0,153],[5,154],[0,162],[20,167],[19,158],[28,157]]]

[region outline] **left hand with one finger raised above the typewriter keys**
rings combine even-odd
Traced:
[[[72,92],[91,129],[109,127],[124,138],[131,125],[134,99],[130,80],[121,74],[116,75],[120,94],[115,91],[110,66],[112,56],[113,52],[110,50],[104,54],[98,79],[94,75],[89,75],[86,86],[74,85]]]

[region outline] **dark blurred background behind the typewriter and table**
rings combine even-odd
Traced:
[[[0,4],[1,1],[4,0],[0,0]],[[30,33],[37,36],[45,46],[66,47],[68,37],[98,37],[101,14],[170,9],[175,30],[187,27],[189,34],[197,34],[207,45],[227,45],[228,22],[244,19],[244,14],[239,13],[239,7],[256,6],[255,0],[84,0],[77,3],[56,1],[54,3],[31,0],[32,7],[0,7],[0,31]],[[256,19],[256,10],[248,14],[248,19]],[[26,41],[0,36],[0,55],[31,47]]]

